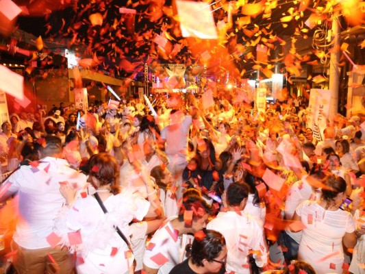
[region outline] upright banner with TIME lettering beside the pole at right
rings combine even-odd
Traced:
[[[327,127],[331,90],[310,90],[310,104],[307,108],[307,127],[313,131],[313,137],[318,141],[324,139],[323,131]]]

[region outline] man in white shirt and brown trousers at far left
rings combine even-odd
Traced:
[[[86,185],[86,176],[71,169],[61,157],[60,138],[47,136],[40,148],[42,160],[21,166],[2,185],[0,201],[18,195],[19,214],[14,246],[17,251],[14,268],[17,273],[73,273],[73,262],[67,249],[57,245],[60,239],[52,237],[53,221],[64,197],[60,182],[68,181],[74,188]],[[56,271],[56,269],[53,269]]]

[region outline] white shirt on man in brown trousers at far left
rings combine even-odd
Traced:
[[[21,166],[1,188],[17,192],[19,214],[14,241],[26,249],[50,247],[46,240],[53,222],[65,202],[60,182],[67,181],[78,189],[86,185],[86,176],[71,169],[64,159],[46,157],[38,166]],[[0,190],[1,192],[1,190]]]

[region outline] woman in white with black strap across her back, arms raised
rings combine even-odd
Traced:
[[[149,175],[144,176],[149,201],[128,189],[120,191],[115,183],[118,164],[108,153],[93,155],[88,166],[88,182],[94,186],[108,213],[103,212],[96,195],[81,193],[75,200],[71,184],[64,182],[60,184],[60,191],[66,204],[55,221],[55,234],[71,252],[77,252],[77,273],[129,273],[133,269],[134,255],[116,227],[130,241],[129,223],[133,219],[141,221],[144,216],[155,216],[155,210],[162,212],[157,205],[150,206],[158,197]]]

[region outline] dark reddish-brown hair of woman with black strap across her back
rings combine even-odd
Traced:
[[[99,180],[101,186],[110,184],[110,192],[113,195],[119,193],[119,187],[116,186],[119,166],[115,158],[108,153],[99,153],[93,155],[88,162],[89,175]]]

